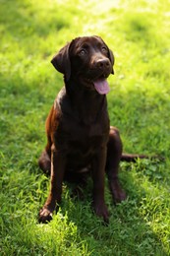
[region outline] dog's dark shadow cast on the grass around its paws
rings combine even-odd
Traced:
[[[123,173],[123,178],[120,177],[123,183],[127,175],[130,176],[126,187],[128,198],[118,205],[114,204],[107,186],[107,179],[105,179],[105,198],[110,213],[109,224],[104,224],[102,219],[93,213],[92,180],[89,176],[85,179],[85,183],[65,181],[60,213],[67,216],[68,222],[77,226],[78,233],[89,250],[93,250],[92,246],[96,242],[98,244],[99,240],[99,246],[110,248],[112,255],[115,253],[115,248],[121,248],[122,244],[124,244],[123,251],[134,251],[138,254],[140,248],[143,248],[143,251],[148,253],[161,251],[162,255],[167,255],[161,241],[140,212],[140,202],[144,196],[143,188],[135,183],[129,172]],[[154,241],[153,245],[148,244],[149,240]],[[156,248],[155,244],[157,244]]]

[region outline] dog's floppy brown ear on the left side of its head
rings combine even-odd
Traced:
[[[69,56],[70,42],[67,43],[61,50],[53,57],[51,63],[57,71],[64,74],[66,81],[71,76],[71,62]]]

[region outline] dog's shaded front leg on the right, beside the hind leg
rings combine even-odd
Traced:
[[[109,214],[104,201],[104,174],[106,163],[106,147],[99,149],[92,162],[93,207],[97,216],[105,223],[109,222]]]

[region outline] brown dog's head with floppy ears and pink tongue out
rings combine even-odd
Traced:
[[[99,94],[109,91],[106,79],[114,74],[114,56],[99,36],[77,37],[64,46],[53,59],[57,71],[70,79],[81,81]]]

